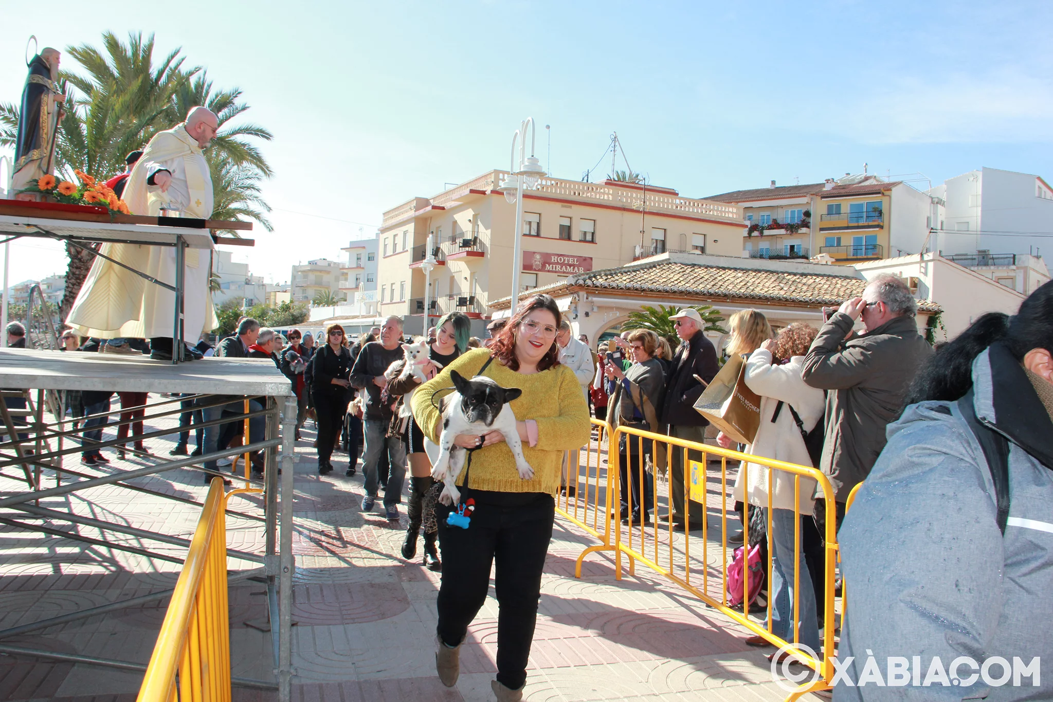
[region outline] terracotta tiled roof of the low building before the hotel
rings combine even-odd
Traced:
[[[559,296],[567,289],[617,290],[622,294],[667,294],[678,298],[726,298],[818,306],[840,304],[861,295],[866,286],[866,280],[851,275],[787,273],[659,260],[571,276],[563,282],[531,293]],[[491,307],[508,305],[509,298],[490,303]],[[927,301],[919,301],[918,306],[923,312],[940,309]]]

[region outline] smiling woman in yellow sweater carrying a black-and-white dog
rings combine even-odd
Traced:
[[[461,501],[471,498],[475,502],[468,527],[446,523],[452,507],[436,507],[443,563],[436,670],[448,687],[457,682],[460,645],[468,625],[486,600],[490,569],[496,561],[500,614],[497,680],[491,687],[501,701],[521,699],[526,682],[526,659],[552,539],[563,452],[589,442],[589,406],[581,386],[574,372],[558,361],[555,340],[559,320],[559,308],[548,295],[526,300],[489,348],[461,355],[413,396],[417,423],[437,442],[442,418],[435,405],[440,396],[453,389],[451,370],[471,378],[493,357],[482,375],[501,387],[522,389],[511,406],[534,477],[519,478],[500,433],[486,434],[481,446],[479,437],[460,435],[455,440],[458,446],[476,449],[457,478],[457,484],[463,486]]]

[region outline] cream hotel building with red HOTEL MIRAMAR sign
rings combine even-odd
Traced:
[[[486,314],[512,294],[515,237],[521,237],[520,288],[618,266],[663,252],[741,255],[738,205],[681,197],[667,187],[541,179],[523,193],[523,218],[491,171],[433,198],[413,198],[384,213],[378,266],[381,315],[422,315],[421,262],[432,237],[429,313]]]

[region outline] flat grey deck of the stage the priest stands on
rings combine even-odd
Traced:
[[[146,356],[0,348],[0,387],[287,397],[274,362],[205,358],[173,365]]]

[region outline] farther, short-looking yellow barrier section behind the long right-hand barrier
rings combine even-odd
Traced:
[[[611,425],[595,418],[592,425],[596,430],[595,438],[590,438],[584,448],[564,454],[562,484],[567,489],[556,500],[556,512],[600,540],[598,546],[590,546],[578,557],[575,566],[578,578],[581,577],[581,561],[585,555],[614,549],[611,545],[612,483],[610,469],[602,467],[601,458],[604,444],[610,440]]]

